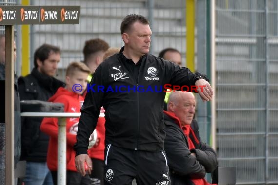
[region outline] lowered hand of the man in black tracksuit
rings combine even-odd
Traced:
[[[87,163],[88,169],[85,170],[85,163]],[[93,170],[92,160],[87,154],[80,154],[75,157],[75,167],[82,176],[86,175],[86,171],[91,174]]]

